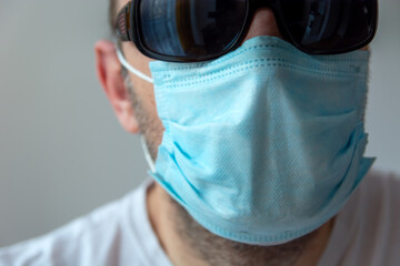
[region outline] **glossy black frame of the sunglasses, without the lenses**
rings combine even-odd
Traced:
[[[338,53],[346,53],[351,52],[357,49],[363,48],[367,44],[369,44],[372,39],[376,35],[377,29],[378,29],[378,0],[371,0],[373,4],[373,14],[371,18],[371,29],[369,32],[369,35],[366,40],[361,41],[360,43],[357,43],[354,45],[344,48],[344,49],[308,49],[307,47],[303,47],[299,44],[294,38],[291,35],[290,30],[287,28],[287,24],[284,23],[284,18],[282,14],[282,9],[280,7],[281,0],[247,0],[246,1],[246,17],[244,17],[244,23],[241,28],[241,30],[238,32],[233,41],[230,45],[224,48],[220,53],[210,54],[201,58],[187,58],[187,57],[174,57],[174,55],[166,55],[161,53],[157,53],[150,49],[148,49],[144,44],[143,37],[141,33],[141,22],[140,22],[140,4],[141,0],[131,0],[128,2],[121,11],[117,16],[117,22],[116,22],[116,31],[117,37],[121,41],[131,41],[134,43],[134,45],[138,48],[138,50],[146,57],[152,58],[156,60],[161,61],[168,61],[168,62],[203,62],[209,61],[212,59],[220,58],[238,47],[241,45],[242,41],[246,38],[246,33],[248,32],[250,24],[252,22],[252,18],[254,17],[254,13],[260,8],[270,8],[272,12],[276,16],[276,20],[278,23],[278,29],[280,33],[283,37],[283,40],[288,41],[292,45],[294,45],[300,51],[308,53],[308,54],[338,54]],[[133,14],[133,16],[131,16]]]

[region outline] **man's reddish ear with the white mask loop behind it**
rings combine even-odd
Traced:
[[[98,79],[119,122],[126,131],[138,133],[139,124],[121,76],[121,63],[118,60],[114,44],[106,40],[98,41],[94,45],[94,53]]]

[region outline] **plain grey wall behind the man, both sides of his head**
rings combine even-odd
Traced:
[[[121,197],[147,175],[97,82],[107,0],[0,0],[0,246]],[[368,155],[400,173],[400,1],[372,44]]]

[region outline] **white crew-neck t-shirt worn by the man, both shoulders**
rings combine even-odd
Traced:
[[[40,238],[0,248],[0,266],[170,266],[151,228],[147,180],[106,205]],[[321,266],[400,265],[400,176],[372,172],[336,219]]]

